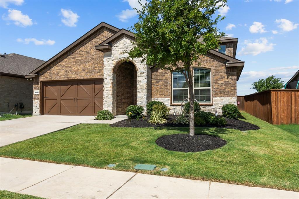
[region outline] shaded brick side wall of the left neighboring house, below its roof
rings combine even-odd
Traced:
[[[25,78],[0,75],[0,113],[11,111],[18,102],[24,104],[22,113],[32,113],[32,82]],[[16,109],[11,113],[15,112]],[[21,113],[21,109],[18,112]]]

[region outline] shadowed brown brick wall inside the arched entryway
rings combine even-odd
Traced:
[[[126,114],[129,105],[136,105],[136,70],[124,62],[116,72],[116,115]]]

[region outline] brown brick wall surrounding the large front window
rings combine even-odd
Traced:
[[[237,69],[225,67],[225,59],[208,53],[200,57],[193,67],[210,68],[212,71],[212,97],[237,96]],[[152,69],[152,98],[171,98],[171,72]]]

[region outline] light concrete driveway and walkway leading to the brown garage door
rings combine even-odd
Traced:
[[[120,119],[123,120],[124,118],[118,118],[118,120]],[[94,121],[94,116],[62,115],[41,115],[0,121],[0,146],[59,131],[80,123],[112,122],[112,120],[107,121]]]

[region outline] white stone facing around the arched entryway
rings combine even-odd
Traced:
[[[113,68],[120,62],[126,61],[128,54],[124,50],[130,50],[133,44],[126,37],[122,37],[112,44],[111,51],[104,53],[104,99],[103,108],[116,114],[116,75],[113,73]],[[144,107],[146,112],[147,100],[150,95],[147,91],[150,88],[150,69],[145,63],[141,63],[141,59],[132,61],[137,68],[137,105]]]

